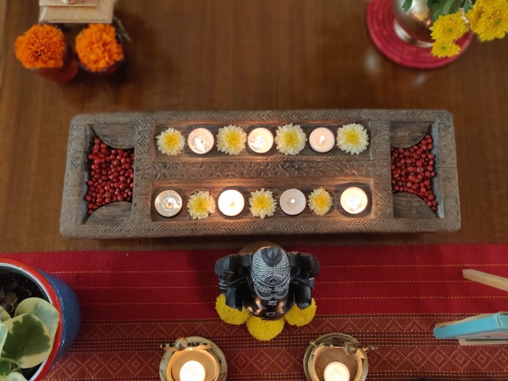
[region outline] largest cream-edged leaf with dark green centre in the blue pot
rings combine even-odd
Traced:
[[[39,365],[49,357],[54,338],[37,316],[24,313],[4,322],[8,329],[2,359],[21,369]]]

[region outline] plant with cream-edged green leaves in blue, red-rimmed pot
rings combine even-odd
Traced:
[[[74,342],[76,295],[62,280],[0,259],[0,380],[41,380]]]

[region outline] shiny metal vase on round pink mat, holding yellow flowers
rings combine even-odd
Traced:
[[[412,0],[411,8],[407,12],[402,9],[404,0],[392,0],[395,13],[395,33],[404,42],[430,47],[430,27],[432,26],[432,12],[427,7],[427,0]]]

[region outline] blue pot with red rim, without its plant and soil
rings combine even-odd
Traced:
[[[53,349],[48,359],[39,365],[39,368],[29,378],[29,381],[42,380],[53,363],[69,351],[78,335],[81,323],[81,312],[78,299],[67,283],[25,263],[12,259],[0,258],[0,271],[22,275],[34,282],[41,291],[43,297],[50,302],[60,314],[60,323],[56,330]]]

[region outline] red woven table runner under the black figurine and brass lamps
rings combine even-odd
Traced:
[[[270,342],[216,318],[213,265],[234,250],[11,255],[67,281],[83,309],[80,336],[47,380],[158,380],[158,348],[179,335],[216,342],[228,380],[304,380],[308,342],[344,332],[379,345],[368,380],[508,379],[508,346],[435,340],[437,322],[508,309],[508,293],[462,278],[508,277],[508,245],[293,247],[319,258],[317,316]],[[8,256],[9,257],[9,256]]]

